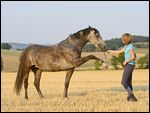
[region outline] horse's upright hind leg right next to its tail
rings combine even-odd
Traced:
[[[25,78],[24,78],[24,89],[25,89],[25,99],[28,99],[28,77],[29,77],[29,70],[25,71]]]

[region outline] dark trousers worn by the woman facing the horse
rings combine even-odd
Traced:
[[[134,70],[134,67],[135,66],[131,65],[131,64],[126,64],[125,67],[124,67],[124,72],[123,72],[121,84],[124,86],[124,88],[128,92],[133,90],[133,87],[132,87],[132,72]]]

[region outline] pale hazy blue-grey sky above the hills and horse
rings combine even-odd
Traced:
[[[91,25],[104,40],[149,36],[149,1],[2,1],[1,41],[55,44]]]

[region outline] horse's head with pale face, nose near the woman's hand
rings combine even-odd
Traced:
[[[106,44],[103,41],[99,31],[95,28],[89,26],[90,33],[87,37],[88,42],[94,44],[97,48],[101,49],[102,51],[106,51]]]

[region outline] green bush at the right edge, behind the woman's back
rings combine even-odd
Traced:
[[[143,57],[140,57],[137,60],[137,65],[140,69],[148,69],[149,68],[149,55],[146,54]]]

